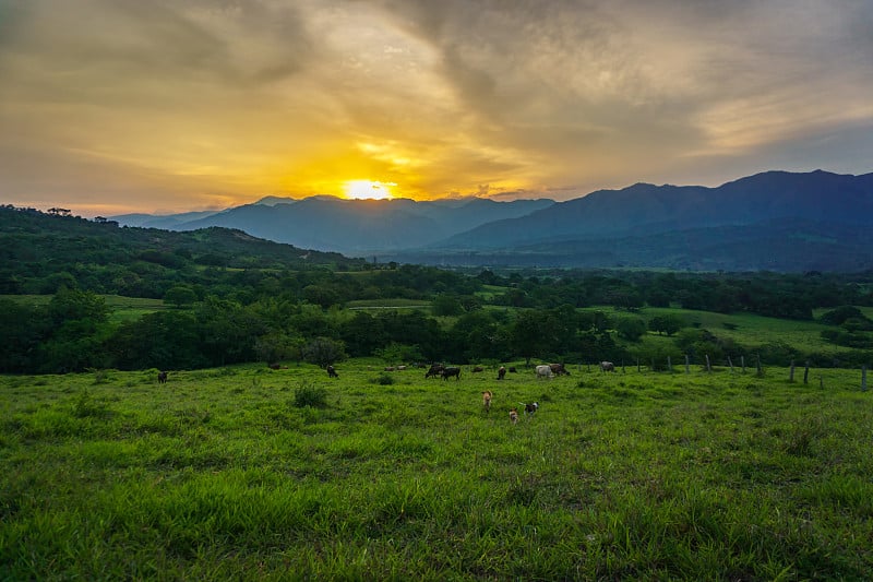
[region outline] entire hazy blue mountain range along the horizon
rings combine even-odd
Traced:
[[[555,202],[263,199],[130,226],[227,226],[301,248],[442,265],[725,271],[873,269],[873,174],[767,171],[703,186],[636,183]]]

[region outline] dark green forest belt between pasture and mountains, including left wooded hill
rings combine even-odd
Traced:
[[[35,295],[47,300],[21,297]],[[107,295],[163,299],[164,308],[118,320]],[[426,307],[372,313],[349,307],[361,300]],[[0,372],[326,365],[359,356],[585,363],[762,351],[828,366],[865,363],[873,323],[858,309],[864,306],[873,306],[870,272],[450,271],[302,250],[240,230],[171,233],[62,209],[0,207]],[[578,309],[597,307],[622,316]],[[663,307],[794,320],[828,308],[827,340],[845,349],[835,358],[744,346],[678,316],[645,313]],[[674,342],[666,353],[643,354],[636,343],[646,332]]]

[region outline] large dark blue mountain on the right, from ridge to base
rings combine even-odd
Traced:
[[[718,188],[637,183],[385,260],[692,270],[873,269],[873,174],[768,171]]]

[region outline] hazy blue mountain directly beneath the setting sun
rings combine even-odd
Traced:
[[[254,204],[187,221],[174,221],[172,216],[160,218],[167,224],[165,228],[174,230],[208,226],[239,228],[277,242],[354,256],[420,247],[489,222],[524,216],[552,204],[552,200],[494,202],[477,198],[416,202],[408,199],[311,197],[292,200],[267,197]],[[134,225],[123,216],[111,219]],[[137,226],[145,222],[140,215],[135,219]]]

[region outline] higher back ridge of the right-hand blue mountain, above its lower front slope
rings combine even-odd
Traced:
[[[505,248],[561,239],[614,238],[800,218],[865,225],[873,217],[873,174],[768,171],[725,183],[599,190],[523,218],[474,228],[441,248]]]

